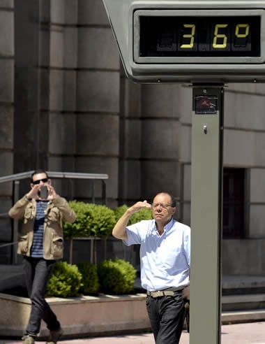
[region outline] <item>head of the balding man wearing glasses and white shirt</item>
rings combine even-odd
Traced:
[[[171,197],[168,194],[158,194],[153,199],[153,218],[156,222],[169,222],[176,211],[176,208],[171,206],[171,202]]]

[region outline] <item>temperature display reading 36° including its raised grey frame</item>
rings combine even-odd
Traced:
[[[264,63],[264,10],[135,10],[136,64]]]

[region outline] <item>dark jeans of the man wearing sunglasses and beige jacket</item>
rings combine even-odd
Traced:
[[[45,301],[45,289],[52,273],[54,262],[54,260],[24,256],[24,275],[29,298],[31,299],[31,314],[26,334],[36,336],[40,331],[40,322],[42,319],[46,322],[47,328],[50,331],[54,331],[60,327],[56,315]]]

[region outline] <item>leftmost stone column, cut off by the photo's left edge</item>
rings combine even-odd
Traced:
[[[0,9],[0,175],[13,173],[14,124],[14,5],[1,1]],[[0,213],[7,213],[12,205],[12,183],[0,184]],[[0,217],[0,243],[12,241],[10,219]],[[12,246],[0,250],[2,264],[10,263]]]

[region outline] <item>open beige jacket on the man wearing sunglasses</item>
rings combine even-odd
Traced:
[[[30,256],[33,242],[33,228],[36,217],[36,201],[29,201],[26,196],[19,199],[9,210],[9,216],[23,219],[22,232],[18,242],[17,253]],[[45,209],[43,257],[44,259],[63,258],[63,226],[62,222],[75,222],[75,212],[70,208],[66,199],[56,196],[47,204]]]

